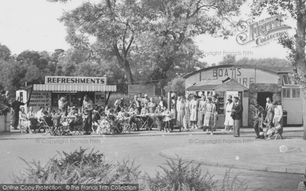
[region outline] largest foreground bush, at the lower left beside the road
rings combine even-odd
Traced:
[[[27,162],[28,168],[13,175],[13,183],[40,184],[85,184],[85,183],[136,183],[140,171],[134,166],[134,161],[108,163],[104,155],[87,149],[76,150],[67,154],[63,152],[58,159],[50,159],[45,166],[33,160]]]

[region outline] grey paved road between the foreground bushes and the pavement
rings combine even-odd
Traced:
[[[32,158],[45,163],[48,158],[57,154],[56,151],[73,151],[80,146],[83,148],[96,148],[105,153],[107,160],[136,159],[136,164],[141,165],[140,170],[154,175],[159,165],[166,166],[166,158],[160,155],[160,151],[173,147],[182,147],[189,144],[189,139],[202,139],[210,135],[172,135],[156,137],[103,137],[103,138],[73,138],[64,137],[59,139],[24,139],[24,140],[0,140],[0,180],[1,183],[9,183],[9,176],[18,174],[25,164],[18,158],[31,160]],[[243,136],[252,138],[253,134]],[[224,135],[214,135],[214,138],[221,139]],[[286,137],[285,137],[286,138]],[[301,138],[300,132],[290,133],[290,138]],[[53,141],[53,144],[49,144]],[[262,140],[265,141],[265,140]],[[54,144],[54,142],[57,142]],[[203,145],[205,146],[205,145]],[[239,149],[233,151],[239,154]],[[214,179],[221,181],[226,168],[202,166],[202,171],[210,171],[215,175]],[[288,173],[269,173],[262,171],[250,171],[233,169],[232,175],[239,175],[239,178],[250,182],[249,187],[261,188],[260,190],[297,190],[299,181],[303,180],[302,175]]]

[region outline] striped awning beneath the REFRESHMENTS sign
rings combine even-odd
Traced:
[[[103,91],[117,91],[117,86],[108,85],[45,85],[34,84],[34,91],[65,91],[65,92],[103,92]]]

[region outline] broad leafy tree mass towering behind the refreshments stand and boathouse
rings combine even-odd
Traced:
[[[186,63],[191,63],[190,68],[205,66],[197,61],[202,55],[193,37],[232,35],[231,17],[238,15],[243,2],[104,0],[84,3],[60,20],[67,26],[67,41],[74,48],[101,52],[106,60],[115,57],[127,82],[133,84],[138,74],[148,80],[165,79],[184,73]],[[95,42],[89,43],[88,36],[95,37]],[[175,69],[178,71],[173,72]]]

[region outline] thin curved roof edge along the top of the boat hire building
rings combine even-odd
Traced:
[[[290,68],[290,67],[277,67],[277,66],[264,66],[264,65],[261,65],[261,66],[259,66],[259,65],[233,65],[233,64],[231,64],[231,65],[218,65],[218,66],[202,68],[202,69],[196,70],[194,72],[191,72],[189,74],[186,74],[184,76],[184,78],[187,78],[191,75],[194,75],[198,72],[205,71],[205,70],[210,70],[210,69],[214,69],[214,68],[229,68],[229,67],[254,68],[254,69],[263,70],[263,71],[276,73],[276,74],[290,73],[292,71],[292,68]]]

